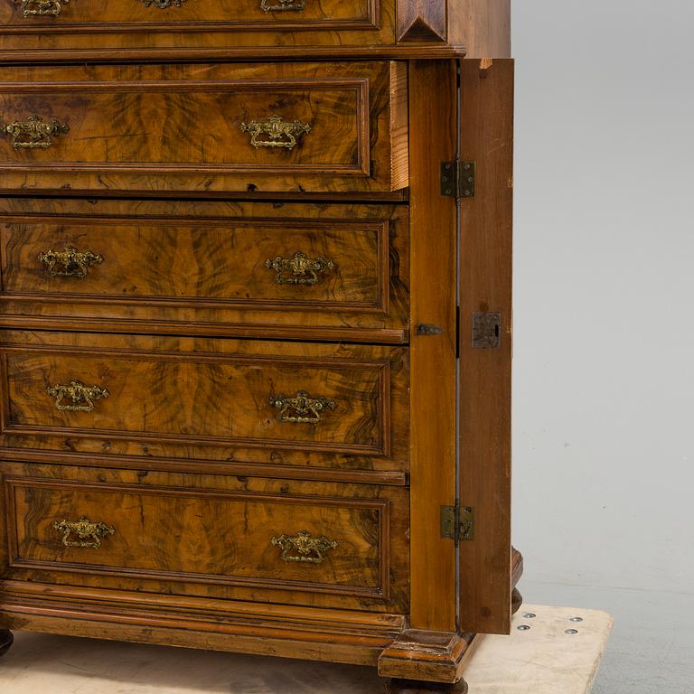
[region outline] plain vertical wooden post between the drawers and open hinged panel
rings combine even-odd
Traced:
[[[437,174],[455,155],[455,78],[451,61],[410,65],[410,624],[443,632],[455,630],[455,547],[441,538],[440,507],[455,502],[456,239],[455,201],[441,197]],[[416,334],[418,324],[441,333]]]

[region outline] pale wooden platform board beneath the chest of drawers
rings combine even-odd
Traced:
[[[475,653],[466,672],[471,694],[586,694],[611,622],[604,612],[524,605],[510,637],[486,637]],[[0,660],[3,694],[380,694],[383,689],[371,668],[46,634],[15,637]]]

